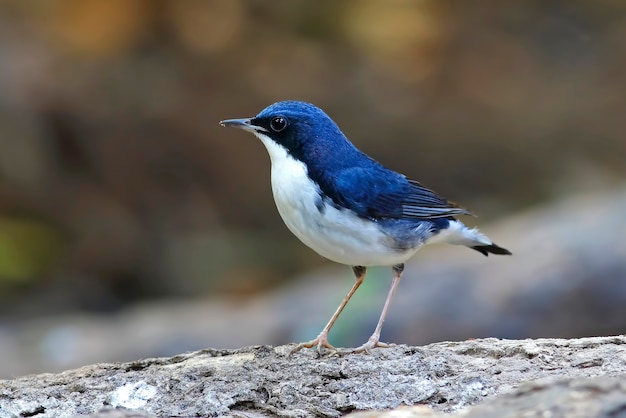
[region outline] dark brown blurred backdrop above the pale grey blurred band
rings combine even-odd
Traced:
[[[484,224],[623,184],[625,74],[615,0],[2,1],[0,321],[325,265],[220,119],[313,102]]]

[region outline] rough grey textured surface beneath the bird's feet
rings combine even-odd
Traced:
[[[207,349],[4,380],[0,416],[336,417],[412,405],[420,407],[396,413],[626,414],[626,336],[469,340],[335,357],[288,356],[291,347]]]

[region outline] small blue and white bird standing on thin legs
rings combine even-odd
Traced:
[[[318,353],[363,352],[380,342],[385,316],[404,263],[424,244],[465,245],[484,255],[511,254],[476,229],[454,218],[471,215],[415,180],[385,168],[359,151],[320,108],[301,101],[274,103],[225,127],[252,132],[271,160],[272,192],[287,228],[322,257],[352,267],[356,282],[317,338],[297,345]],[[391,266],[391,289],[372,336],[363,345],[339,351],[328,333],[367,267]]]

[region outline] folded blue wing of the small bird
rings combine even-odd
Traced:
[[[327,181],[320,184],[322,191],[359,216],[436,219],[471,214],[417,181],[379,164],[344,168],[324,177]]]

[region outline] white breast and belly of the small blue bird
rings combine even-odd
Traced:
[[[400,251],[374,222],[353,212],[326,205],[320,211],[319,187],[304,163],[263,134],[272,161],[272,191],[276,207],[289,230],[318,254],[352,266],[395,265],[405,262],[418,247]]]

